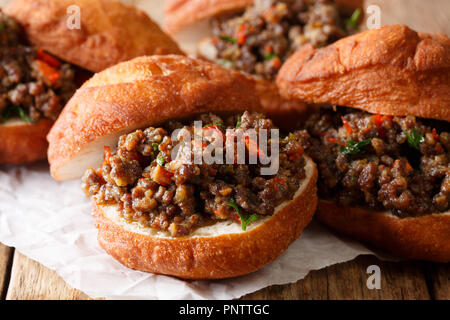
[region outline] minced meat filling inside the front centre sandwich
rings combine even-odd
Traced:
[[[273,175],[261,174],[267,165],[259,160],[256,164],[238,164],[236,148],[232,149],[235,160],[231,164],[225,161],[225,151],[223,164],[181,161],[180,150],[172,159],[173,148],[182,141],[181,133],[172,140],[175,129],[189,132],[191,137],[204,137],[203,150],[214,141],[211,133],[224,135],[226,130],[255,129],[259,141],[260,129],[275,129],[271,120],[249,112],[226,119],[203,114],[199,120],[204,125],[200,129],[193,123],[169,122],[164,127],[121,136],[117,151],[105,148],[102,167],[85,173],[84,191],[98,204],[118,204],[126,220],[168,231],[172,236],[187,235],[199,226],[221,220],[236,221],[245,230],[247,224],[273,214],[276,206],[293,198],[305,177],[300,136],[291,133],[280,138],[279,169]],[[271,152],[271,137],[267,155]],[[253,138],[246,138],[243,144],[245,157],[256,150],[261,159],[264,151],[249,147],[256,143]],[[195,150],[196,141],[190,143]],[[217,153],[219,149],[215,150]],[[189,153],[189,160],[193,153]]]

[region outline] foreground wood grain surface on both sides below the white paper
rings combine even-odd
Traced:
[[[11,251],[0,245],[0,252]],[[9,279],[4,287],[6,299],[90,299],[86,294],[68,286],[56,272],[14,252],[6,259],[2,256],[0,266],[13,259],[12,268],[1,273]],[[368,289],[367,267],[377,265],[381,270],[381,289]],[[0,270],[8,270],[2,268]],[[353,261],[310,272],[304,279],[287,285],[274,285],[242,299],[280,300],[449,300],[450,266],[425,262],[385,262],[375,256],[365,255]]]

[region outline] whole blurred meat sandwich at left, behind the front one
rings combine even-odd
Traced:
[[[79,29],[67,25],[71,5],[83,12]],[[120,19],[131,23],[116,27]],[[120,2],[12,1],[0,12],[0,164],[45,159],[50,127],[91,72],[153,53],[181,51]]]

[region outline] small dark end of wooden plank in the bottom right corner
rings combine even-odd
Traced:
[[[429,263],[426,272],[432,297],[436,300],[450,300],[450,264]]]

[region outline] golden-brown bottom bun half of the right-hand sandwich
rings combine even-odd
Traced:
[[[407,259],[450,262],[450,214],[400,219],[319,200],[317,218],[327,226]]]

